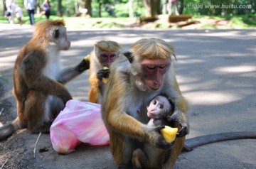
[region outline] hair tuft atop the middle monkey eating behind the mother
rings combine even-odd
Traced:
[[[111,40],[100,40],[95,44],[95,47],[99,48],[100,50],[108,52],[116,52],[121,48],[121,46],[118,43]]]

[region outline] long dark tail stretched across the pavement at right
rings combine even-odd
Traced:
[[[185,141],[182,151],[193,151],[193,148],[203,146],[208,143],[215,143],[219,141],[229,141],[238,139],[256,138],[256,132],[228,132],[228,133],[215,133],[206,136],[198,136],[195,138],[189,138]]]

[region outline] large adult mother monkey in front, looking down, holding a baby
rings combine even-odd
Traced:
[[[174,49],[164,40],[144,38],[134,43],[131,50],[129,60],[122,55],[112,63],[102,99],[102,119],[110,134],[112,156],[119,168],[131,168],[133,151],[142,148],[143,143],[149,143],[153,147],[169,149],[170,156],[156,158],[164,158],[159,168],[173,168],[189,128],[188,105],[181,95],[171,64]],[[179,131],[173,143],[167,143],[161,136],[160,130],[164,126],[146,125],[149,121],[146,105],[159,94],[174,99],[174,114],[168,120]]]

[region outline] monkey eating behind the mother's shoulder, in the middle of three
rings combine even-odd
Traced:
[[[122,46],[111,40],[100,40],[95,44],[90,54],[89,102],[100,104],[105,88],[102,80],[110,75],[110,70],[103,70],[103,67],[110,67],[121,50]]]

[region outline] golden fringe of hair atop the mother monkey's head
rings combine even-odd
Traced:
[[[174,47],[159,38],[143,38],[132,45],[133,55],[148,59],[166,59],[174,55]]]

